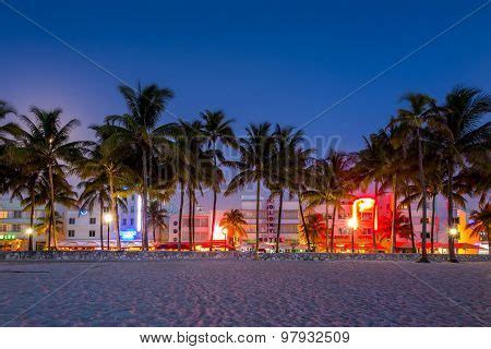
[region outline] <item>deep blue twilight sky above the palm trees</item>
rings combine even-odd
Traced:
[[[83,122],[76,137],[92,137],[87,125],[124,111],[119,81],[2,2],[1,99],[21,112],[62,107],[67,119]],[[238,127],[301,127],[487,1],[7,2],[121,81],[171,87],[173,115],[221,108]],[[491,92],[490,23],[488,5],[306,132],[338,136],[354,151],[361,135],[385,124],[404,93],[442,98],[456,84]]]

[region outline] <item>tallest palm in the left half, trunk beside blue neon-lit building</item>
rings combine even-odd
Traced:
[[[128,113],[106,117],[106,124],[99,127],[98,131],[105,135],[105,142],[110,148],[130,146],[140,155],[143,183],[142,209],[147,212],[148,186],[153,178],[152,159],[157,149],[156,144],[161,141],[157,125],[173,93],[169,88],[160,88],[155,84],[143,88],[139,84],[136,89],[120,86],[119,91],[127,104]],[[142,221],[142,248],[148,250],[145,219]]]

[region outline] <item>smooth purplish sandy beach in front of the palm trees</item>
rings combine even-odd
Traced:
[[[3,326],[490,326],[491,263],[0,263]]]

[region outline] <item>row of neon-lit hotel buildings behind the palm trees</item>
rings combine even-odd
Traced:
[[[386,194],[374,197],[360,195],[342,202],[336,209],[334,219],[335,252],[388,252],[391,245],[392,209],[394,206],[393,195]],[[179,229],[178,214],[172,205],[165,205],[169,212],[167,228],[149,228],[151,245],[156,249],[173,250],[178,248]],[[304,207],[306,217],[314,217],[309,230],[311,241],[318,251],[325,251],[326,244],[331,244],[331,231],[333,222],[333,208],[325,206],[314,208]],[[216,224],[212,227],[212,213],[197,207],[194,220],[194,244],[196,250],[208,250],[211,236],[214,237],[213,249],[233,248],[241,251],[251,251],[255,245],[255,196],[241,196],[240,209],[243,213],[247,225],[244,226],[248,238],[233,242],[232,237],[227,237],[226,229],[219,222],[224,210],[217,210]],[[400,207],[400,213],[406,217],[399,219],[397,227],[405,226],[406,233],[398,231],[396,236],[396,248],[399,252],[409,252],[412,248],[410,233],[407,233],[409,209],[415,231],[415,244],[421,245],[422,213],[417,204],[410,207]],[[59,236],[60,249],[110,249],[116,246],[113,225],[119,225],[120,240],[123,249],[139,249],[141,246],[142,230],[142,202],[141,197],[133,195],[128,198],[125,209],[118,210],[115,221],[107,221],[105,213],[97,209],[93,212],[60,209],[63,217],[63,227]],[[0,249],[1,250],[25,250],[27,248],[31,230],[29,212],[24,212],[19,202],[0,201]],[[107,214],[107,213],[106,213]],[[44,215],[43,209],[35,210],[35,219]],[[327,225],[325,216],[327,215]],[[434,221],[432,217],[434,216]],[[319,221],[315,221],[319,217]],[[184,214],[182,219],[181,246],[189,246],[189,217]],[[260,204],[260,249],[265,252],[273,251],[276,245],[278,219],[278,200],[261,197]],[[463,210],[454,212],[454,222],[457,229],[456,248],[458,253],[488,253],[486,237],[475,237],[467,229],[466,214]],[[446,224],[441,224],[438,212],[431,210],[428,204],[428,241],[430,245],[430,228],[433,226],[433,246],[435,252],[445,253],[447,250],[448,231]],[[301,213],[297,201],[285,201],[283,204],[279,250],[283,252],[307,250],[306,237],[301,229]],[[155,234],[154,234],[155,232]],[[34,244],[38,249],[45,245],[45,237],[36,233],[34,229]],[[228,242],[228,243],[227,243]]]

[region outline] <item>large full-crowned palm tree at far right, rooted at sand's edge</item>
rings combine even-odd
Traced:
[[[446,197],[448,229],[454,226],[454,177],[458,169],[469,164],[480,163],[489,156],[491,147],[491,122],[481,123],[484,115],[491,111],[491,96],[478,88],[455,87],[445,97],[444,105],[432,124],[435,144],[446,168]],[[454,238],[448,237],[448,258],[455,256]]]

